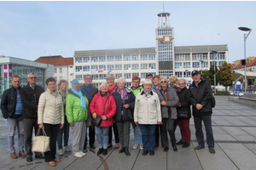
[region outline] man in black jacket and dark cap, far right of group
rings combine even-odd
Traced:
[[[189,102],[193,105],[193,116],[195,122],[195,136],[198,146],[195,150],[205,148],[204,134],[201,122],[204,122],[207,131],[207,144],[209,151],[214,154],[214,139],[212,133],[212,88],[210,82],[201,78],[198,71],[191,72],[194,80],[189,86]]]

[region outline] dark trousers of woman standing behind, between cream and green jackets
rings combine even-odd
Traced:
[[[69,138],[69,123],[67,122],[67,116],[64,116],[64,126],[62,128],[59,128],[59,132],[57,136],[59,150],[63,150],[63,147],[62,147],[63,133],[64,133],[64,146],[67,146],[68,138]]]

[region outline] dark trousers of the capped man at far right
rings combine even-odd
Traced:
[[[209,148],[214,147],[214,139],[212,133],[212,116],[194,116],[195,122],[195,136],[198,144],[205,145],[204,142],[204,133],[202,131],[201,122],[204,122],[207,131],[207,144]]]

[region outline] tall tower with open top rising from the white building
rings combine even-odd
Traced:
[[[159,75],[171,77],[174,73],[174,32],[170,25],[170,13],[160,13],[158,28],[155,29],[156,55],[158,59]]]

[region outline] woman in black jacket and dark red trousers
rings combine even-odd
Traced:
[[[187,148],[190,145],[190,128],[189,128],[189,119],[191,117],[190,111],[190,103],[189,103],[189,89],[186,87],[186,80],[180,79],[178,80],[178,86],[181,89],[180,92],[177,93],[177,97],[179,99],[179,104],[177,105],[177,112],[183,111],[183,113],[187,114],[187,118],[182,118],[177,116],[177,124],[180,128],[180,133],[182,139],[177,142],[177,144],[183,144],[183,148]]]

